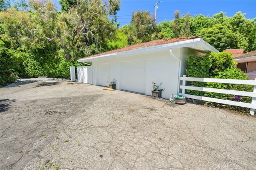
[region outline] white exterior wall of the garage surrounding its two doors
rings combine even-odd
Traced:
[[[202,55],[202,53],[196,52],[189,48],[179,48],[172,49],[172,54],[176,56],[173,57],[170,54],[170,50],[163,50],[157,52],[150,53],[140,53],[136,55],[124,55],[117,57],[109,57],[102,59],[95,59],[92,61],[92,84],[99,85],[98,83],[98,66],[103,63],[111,64],[111,71],[109,75],[110,80],[114,78],[117,80],[116,82],[116,90],[122,90],[122,81],[121,78],[121,65],[122,62],[131,62],[131,61],[146,61],[146,91],[145,94],[151,96],[152,90],[152,81],[156,84],[162,85],[160,88],[164,88],[165,90],[162,92],[162,98],[170,99],[171,94],[178,94],[178,84],[179,84],[179,69],[181,70],[180,76],[186,74],[186,59],[188,55],[191,53],[196,55]],[[179,60],[181,62],[181,68],[179,64]],[[129,82],[130,86],[136,86],[136,82]],[[107,83],[106,83],[107,86]]]

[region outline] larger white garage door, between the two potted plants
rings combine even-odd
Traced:
[[[146,61],[121,63],[121,88],[137,93],[146,93]]]

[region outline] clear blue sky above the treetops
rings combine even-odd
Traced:
[[[60,9],[58,0],[52,2]],[[148,10],[155,14],[156,2],[158,0],[121,0],[121,9],[117,12],[120,27],[130,23],[132,11]],[[226,16],[234,16],[242,11],[247,19],[256,18],[256,0],[160,0],[157,6],[157,23],[173,20],[175,10],[179,10],[181,15],[189,12],[191,16],[203,14],[210,17],[220,11],[226,12]]]

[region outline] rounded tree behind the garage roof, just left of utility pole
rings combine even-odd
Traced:
[[[152,40],[153,33],[156,32],[156,20],[149,11],[138,10],[136,13],[132,12],[131,24],[135,26],[135,36],[139,42],[146,42]]]

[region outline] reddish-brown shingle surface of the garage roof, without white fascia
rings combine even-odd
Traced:
[[[146,48],[146,47],[153,47],[153,46],[156,46],[156,45],[175,43],[175,42],[179,42],[179,41],[186,41],[186,40],[196,39],[196,38],[200,38],[200,36],[195,35],[193,37],[178,37],[178,38],[169,38],[169,39],[158,39],[158,40],[154,40],[154,41],[148,41],[148,42],[145,42],[145,43],[130,45],[130,46],[123,47],[123,48],[120,48],[120,49],[114,49],[114,50],[111,50],[111,51],[106,51],[104,53],[91,55],[91,56],[84,57],[84,58],[81,58],[81,59],[97,57],[97,56],[100,56],[100,55],[107,55],[107,54],[112,54],[112,53],[120,53],[120,52],[130,51],[130,50],[134,50],[134,49],[142,49],[142,48]]]

